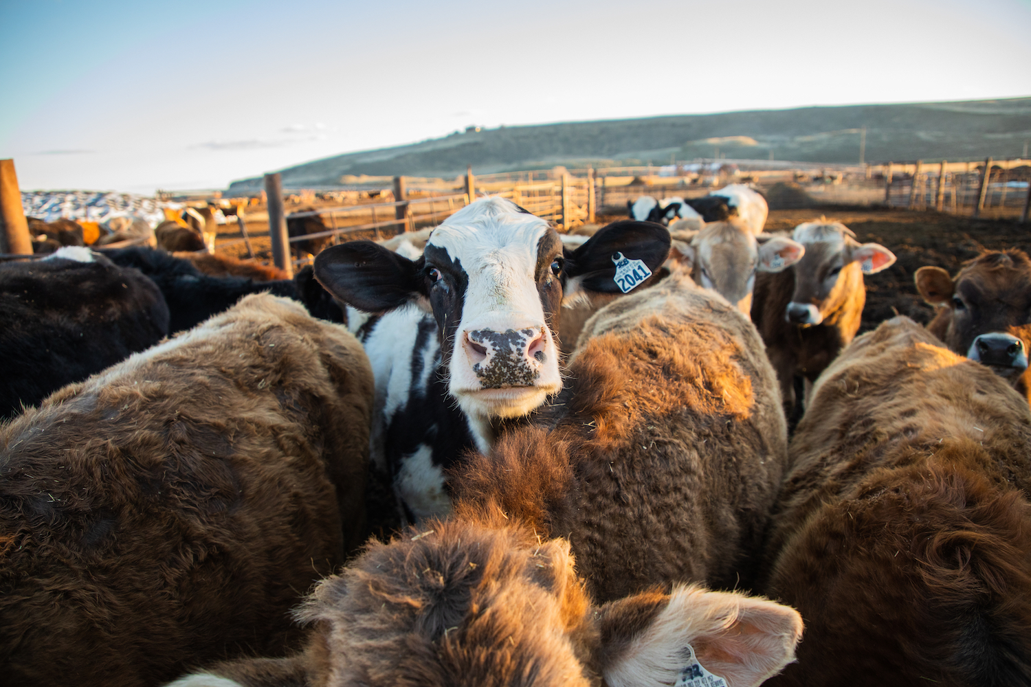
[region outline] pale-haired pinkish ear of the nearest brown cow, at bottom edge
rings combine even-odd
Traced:
[[[685,684],[708,674],[746,686],[794,660],[802,618],[765,598],[679,586],[669,596],[645,592],[602,607],[599,629],[597,658],[610,687]]]

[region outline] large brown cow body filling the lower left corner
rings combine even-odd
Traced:
[[[365,534],[372,375],[252,296],[0,425],[0,675],[143,687],[281,654]]]

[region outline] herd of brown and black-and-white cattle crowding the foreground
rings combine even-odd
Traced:
[[[857,337],[884,246],[629,210],[0,266],[0,675],[1031,684],[1031,260]]]

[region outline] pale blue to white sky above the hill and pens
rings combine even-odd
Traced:
[[[1031,0],[0,0],[0,26],[23,190],[220,188],[469,125],[1031,96]]]

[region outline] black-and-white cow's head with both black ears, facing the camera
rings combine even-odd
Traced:
[[[412,301],[436,318],[448,392],[471,417],[519,417],[562,387],[559,312],[563,286],[617,293],[613,256],[655,271],[669,233],[621,221],[575,250],[540,217],[511,201],[487,198],[447,218],[411,261],[371,241],[327,248],[315,259],[319,281],[366,312]]]

